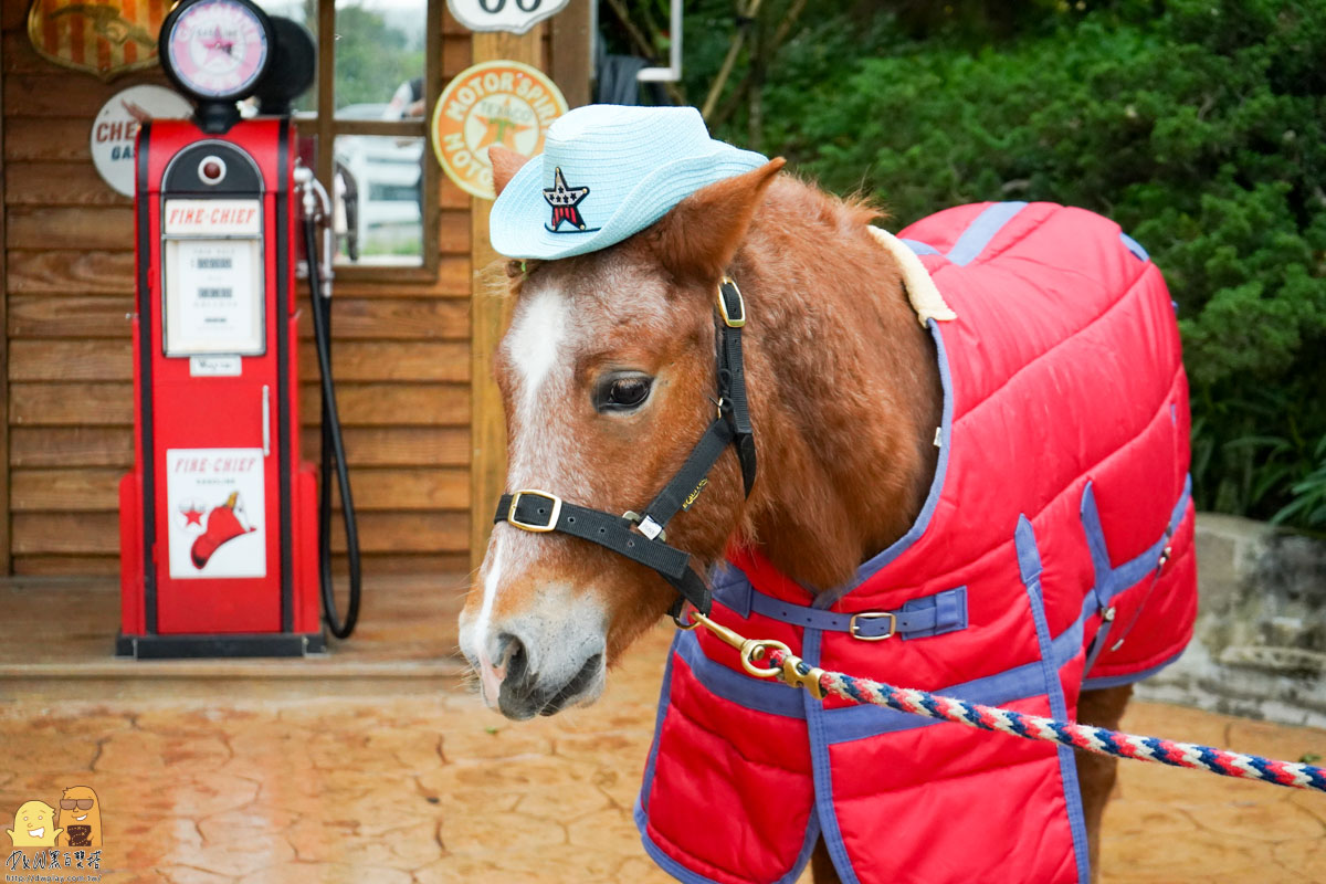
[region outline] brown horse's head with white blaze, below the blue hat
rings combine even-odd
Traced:
[[[501,192],[524,158],[492,156]],[[508,265],[514,305],[493,375],[509,490],[622,514],[644,509],[682,468],[715,419],[715,293],[781,167],[711,184],[606,249]],[[667,539],[711,563],[747,502],[731,451],[701,500]],[[658,574],[610,550],[499,522],[460,645],[489,706],[511,718],[553,714],[593,702],[607,664],[675,599]]]

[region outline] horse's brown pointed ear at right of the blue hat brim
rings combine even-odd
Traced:
[[[751,219],[788,160],[715,182],[676,204],[655,225],[655,248],[663,266],[683,278],[711,282],[723,274],[745,239]]]

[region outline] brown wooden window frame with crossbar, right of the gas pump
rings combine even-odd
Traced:
[[[335,278],[343,282],[432,282],[438,278],[439,225],[442,203],[438,199],[438,176],[442,170],[432,159],[432,138],[428,127],[432,106],[438,101],[442,80],[442,11],[446,0],[426,0],[424,27],[424,72],[423,106],[424,115],[415,119],[337,119],[335,118],[335,52],[324,52],[326,45],[335,45],[335,0],[318,0],[318,109],[317,117],[309,119],[296,117],[296,122],[306,134],[318,139],[317,168],[318,180],[332,192],[332,178],[335,164],[337,135],[395,135],[422,138],[423,154],[419,158],[423,175],[423,199],[420,200],[420,236],[423,239],[423,262],[419,266],[373,266],[361,264],[335,264]]]

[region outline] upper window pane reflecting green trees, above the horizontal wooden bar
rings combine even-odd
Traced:
[[[423,118],[427,0],[335,4],[338,119]]]

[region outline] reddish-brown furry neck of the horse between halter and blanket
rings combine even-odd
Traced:
[[[737,542],[823,590],[907,531],[937,460],[934,342],[867,231],[880,215],[861,196],[780,175],[731,264],[752,317],[764,480]]]

